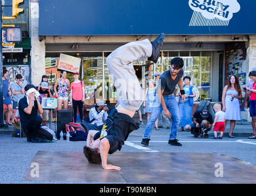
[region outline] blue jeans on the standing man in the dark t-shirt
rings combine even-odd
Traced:
[[[177,130],[179,129],[179,107],[174,95],[169,97],[164,97],[164,100],[165,100],[165,105],[167,109],[171,113],[171,119],[173,120],[173,123],[171,125],[171,134],[169,135],[169,140],[174,140],[177,137]],[[153,125],[155,124],[155,121],[157,120],[158,116],[160,116],[162,111],[163,111],[162,105],[160,105],[159,107],[152,108],[149,121],[147,121],[147,126],[145,127],[144,138],[150,138]]]

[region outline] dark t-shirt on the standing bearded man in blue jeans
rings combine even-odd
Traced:
[[[161,75],[159,81],[161,81],[161,89],[164,89],[163,96],[169,96],[174,93],[179,79],[182,78],[183,72],[184,70],[180,69],[175,80],[171,77],[171,70],[167,70]]]

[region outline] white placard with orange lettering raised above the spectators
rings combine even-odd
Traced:
[[[79,72],[81,59],[74,56],[60,54],[58,69],[66,70],[67,72]]]

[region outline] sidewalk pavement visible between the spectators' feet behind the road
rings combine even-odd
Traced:
[[[137,113],[135,113],[133,119],[136,122],[139,120]],[[139,134],[138,136],[141,136],[141,137],[143,137],[143,135],[144,135],[145,127],[146,127],[146,124],[147,124],[147,117],[143,116],[142,121],[143,121],[144,124],[142,124],[142,125],[140,124],[139,125],[139,130],[136,132],[137,134]],[[49,125],[49,124],[47,124],[47,125]],[[52,123],[51,129],[55,130],[55,132],[56,132],[56,123]],[[161,129],[165,129],[167,131],[166,126],[164,126]],[[230,129],[230,121],[228,121],[227,127],[225,129],[224,137],[228,137],[229,129]],[[8,126],[8,128],[0,127],[0,134],[1,135],[12,135],[13,130],[14,130],[14,126]],[[213,130],[213,127],[212,127],[211,131],[208,132],[209,137],[214,136],[212,130]],[[186,132],[187,131],[185,131],[184,134]],[[187,132],[187,133],[190,134],[190,132]],[[236,126],[235,126],[235,129],[233,131],[233,135],[235,137],[246,137],[246,138],[248,138],[250,135],[252,135],[252,133],[253,133],[252,132],[252,123],[249,123],[247,121],[236,121]]]

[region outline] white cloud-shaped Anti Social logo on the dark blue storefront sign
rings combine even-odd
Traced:
[[[188,6],[194,11],[189,26],[228,26],[240,10],[237,0],[189,0]]]

